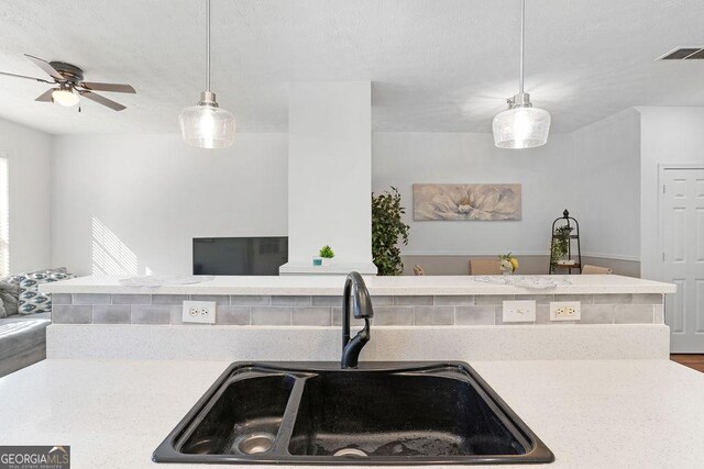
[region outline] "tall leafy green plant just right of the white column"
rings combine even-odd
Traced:
[[[400,206],[398,189],[375,196],[372,192],[372,257],[380,276],[404,272],[399,243],[408,244],[410,226],[402,221],[406,210]]]

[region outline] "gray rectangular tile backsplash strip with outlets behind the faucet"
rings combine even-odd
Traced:
[[[342,297],[55,293],[57,324],[184,325],[184,300],[215,301],[217,325],[340,326]],[[503,325],[505,300],[535,300],[536,321],[512,324],[662,324],[662,294],[372,297],[374,326]],[[581,321],[551,322],[551,301],[580,301]],[[208,325],[205,325],[208,326]]]

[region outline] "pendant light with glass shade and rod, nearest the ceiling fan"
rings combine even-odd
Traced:
[[[210,91],[210,0],[206,0],[206,90],[197,105],[178,114],[184,142],[198,148],[226,148],[234,141],[234,115],[220,109]]]

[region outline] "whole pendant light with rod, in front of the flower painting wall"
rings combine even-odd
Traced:
[[[499,148],[532,148],[544,145],[550,133],[550,113],[534,108],[530,94],[524,92],[524,38],[526,35],[526,0],[520,0],[520,77],[518,94],[509,99],[508,110],[492,122],[494,144]]]

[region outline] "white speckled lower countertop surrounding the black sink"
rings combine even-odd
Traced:
[[[70,445],[75,469],[206,467],[151,455],[228,365],[42,361],[0,378],[0,444]],[[668,360],[471,365],[556,454],[542,467],[702,467],[704,373]]]

